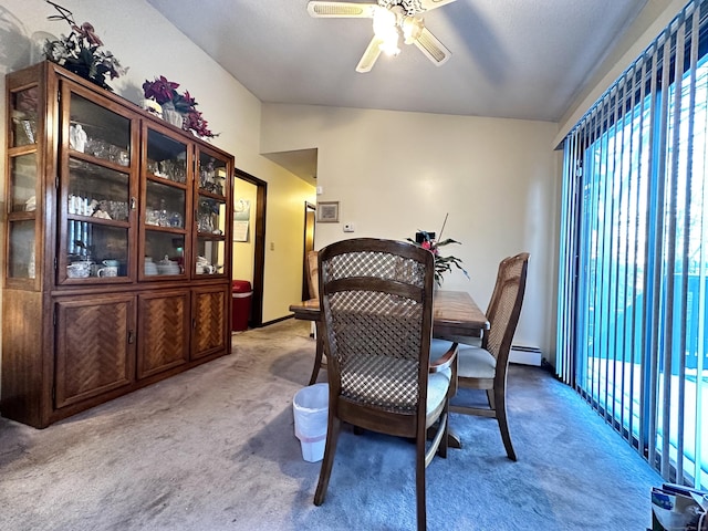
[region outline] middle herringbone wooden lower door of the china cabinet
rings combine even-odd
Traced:
[[[189,361],[189,291],[140,295],[138,314],[138,378]]]

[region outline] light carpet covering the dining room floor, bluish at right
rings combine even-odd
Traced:
[[[309,333],[290,320],[235,334],[232,355],[43,430],[0,418],[0,529],[415,529],[407,440],[345,428],[312,503],[320,462],[302,459],[292,413]],[[512,366],[509,421],[518,462],[494,420],[451,415],[464,448],[427,469],[428,529],[646,529],[660,478],[571,388]]]

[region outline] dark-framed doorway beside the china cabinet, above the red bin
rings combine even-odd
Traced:
[[[266,263],[266,198],[268,183],[236,169],[233,181],[233,280],[248,280],[253,290],[249,325],[263,325],[263,269]],[[246,214],[248,211],[248,214]],[[241,219],[239,219],[241,218]],[[246,221],[246,223],[243,223]]]

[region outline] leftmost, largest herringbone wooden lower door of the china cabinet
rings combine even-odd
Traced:
[[[135,298],[56,302],[55,407],[134,382]]]

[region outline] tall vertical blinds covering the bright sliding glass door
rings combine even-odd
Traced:
[[[708,486],[708,0],[564,140],[556,373],[670,481]]]

